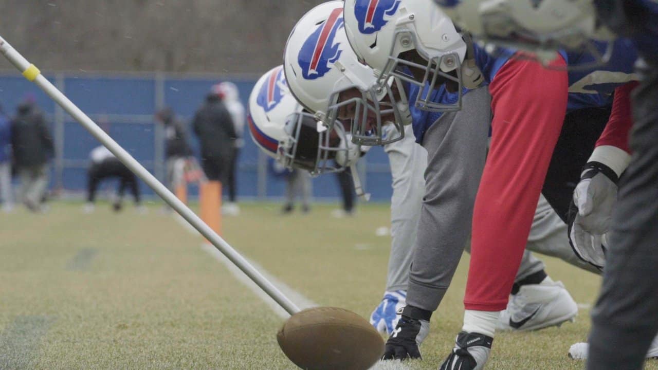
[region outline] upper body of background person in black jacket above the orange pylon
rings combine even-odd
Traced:
[[[217,92],[211,91],[192,121],[201,146],[201,167],[209,181],[226,182],[237,138],[230,113]]]

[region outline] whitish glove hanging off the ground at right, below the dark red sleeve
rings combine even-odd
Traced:
[[[604,235],[610,227],[615,201],[617,174],[603,163],[588,163],[574,191],[578,213],[570,225],[569,240],[580,259],[599,269],[605,265]]]

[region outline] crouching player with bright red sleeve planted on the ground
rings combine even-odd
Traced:
[[[582,53],[560,55],[551,62],[552,70],[520,58],[513,50],[502,50],[492,57],[467,37],[462,38],[465,46],[451,47],[459,40],[443,32],[450,20],[436,13],[438,10],[428,10],[432,9],[430,3],[401,0],[395,11],[386,13],[390,19],[379,31],[354,33],[376,40],[363,43],[367,48],[361,50],[360,57],[380,71],[380,81],[395,76],[415,81],[417,88],[422,86],[420,103],[416,104],[422,109],[466,108],[462,99],[472,92],[465,95],[464,88],[486,86],[492,95],[492,144],[474,207],[465,325],[455,350],[443,364],[443,368],[461,365],[463,369],[481,369],[493,341],[497,311],[507,305],[514,280],[511,272],[519,266],[519,251],[532,223],[536,199],[545,186],[567,108],[574,111],[609,105],[610,95],[618,86],[615,98],[622,108],[624,104],[627,107],[632,86],[622,85],[635,78],[631,72],[636,53],[632,45],[619,41],[613,50],[616,63],[597,69],[587,68],[592,60]],[[355,2],[347,1],[345,9],[346,17],[356,13]],[[567,73],[567,60],[570,66],[581,66],[580,70]],[[455,94],[452,107],[432,104],[443,103],[442,89]],[[613,115],[609,126],[629,119]],[[624,149],[622,140],[615,146]],[[559,199],[554,200],[556,209],[565,207]],[[566,218],[564,212],[559,214]],[[411,289],[407,303],[410,301]],[[426,315],[427,310],[423,311]]]

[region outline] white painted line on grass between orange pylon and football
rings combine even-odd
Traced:
[[[280,305],[278,305],[274,300],[272,300],[270,296],[268,296],[265,292],[263,292],[263,290],[259,286],[257,286],[255,282],[251,281],[251,279],[247,277],[247,275],[245,275],[242,271],[240,271],[240,269],[238,269],[236,265],[234,265],[231,261],[229,261],[228,258],[226,258],[226,256],[224,256],[220,251],[218,251],[217,248],[215,248],[211,244],[203,243],[201,245],[201,249],[207,251],[210,255],[215,257],[217,261],[220,261],[224,266],[226,266],[228,271],[230,271],[238,280],[240,280],[242,284],[245,284],[247,288],[251,289],[252,292],[254,292],[257,296],[259,296],[259,298],[261,298],[261,300],[263,300],[263,302],[265,302],[265,304],[267,304],[272,309],[272,311],[276,313],[276,315],[278,315],[282,319],[288,319],[288,317],[290,317],[290,315],[288,315],[288,312],[286,312],[286,310],[284,310]],[[270,280],[270,282],[274,284],[274,286],[276,286],[278,290],[280,290],[283,294],[288,296],[288,298],[292,302],[294,302],[297,305],[297,307],[299,307],[300,309],[317,306],[317,304],[315,304],[313,301],[309,300],[301,293],[293,290],[286,283],[270,275],[267,271],[265,271],[265,269],[263,269],[263,267],[260,267],[256,263],[253,263],[253,261],[249,261],[249,263],[251,263],[253,267],[255,267],[261,274],[263,274],[263,276],[267,280]]]

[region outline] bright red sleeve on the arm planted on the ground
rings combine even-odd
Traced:
[[[565,66],[559,58],[555,63]],[[489,86],[492,142],[473,212],[466,309],[500,311],[525,250],[567,112],[567,72],[508,61]]]

